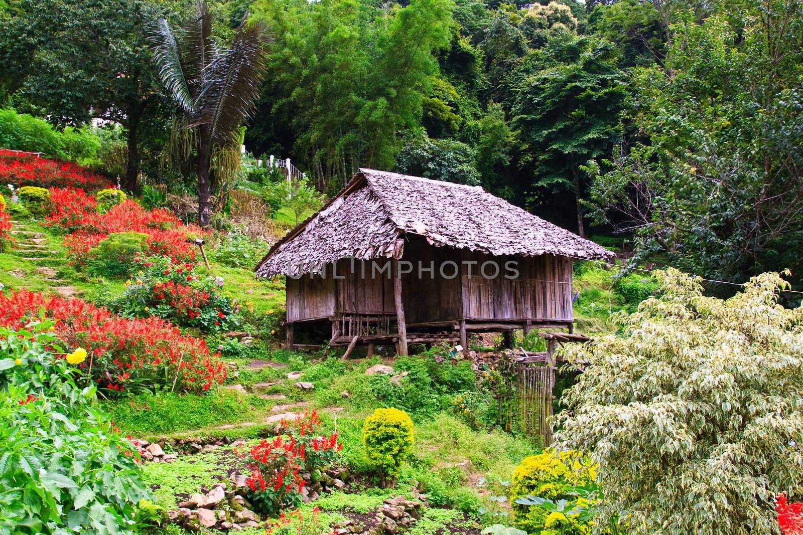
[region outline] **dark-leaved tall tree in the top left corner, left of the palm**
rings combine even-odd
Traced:
[[[93,117],[123,125],[128,190],[137,186],[141,133],[169,112],[147,40],[165,10],[145,0],[11,0],[0,17],[0,71],[14,102],[57,125]]]

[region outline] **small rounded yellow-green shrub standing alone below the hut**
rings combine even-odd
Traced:
[[[379,472],[382,486],[393,484],[413,448],[413,440],[413,420],[405,411],[378,408],[365,419],[365,455]]]

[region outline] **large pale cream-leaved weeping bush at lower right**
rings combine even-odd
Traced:
[[[600,521],[636,533],[776,533],[773,498],[801,483],[803,309],[752,278],[727,301],[699,279],[662,284],[620,336],[569,349],[589,364],[564,393],[556,448],[588,452],[605,482]]]

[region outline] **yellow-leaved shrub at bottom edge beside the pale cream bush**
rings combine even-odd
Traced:
[[[529,456],[513,472],[510,501],[513,509],[513,522],[519,529],[538,535],[587,533],[588,525],[564,513],[552,512],[532,505],[517,504],[524,496],[537,496],[547,500],[575,501],[569,495],[573,487],[593,483],[597,478],[597,468],[587,460],[577,456],[577,452],[546,450],[540,455]]]

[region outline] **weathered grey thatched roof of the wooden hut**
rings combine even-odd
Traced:
[[[479,186],[360,169],[337,197],[277,241],[256,272],[271,277],[307,273],[346,257],[398,257],[397,240],[406,234],[494,255],[612,254]]]

